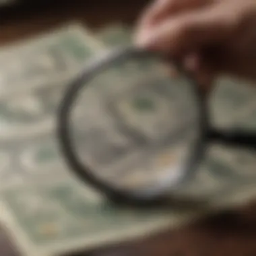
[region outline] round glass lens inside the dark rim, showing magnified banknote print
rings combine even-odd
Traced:
[[[73,148],[94,177],[130,193],[172,188],[199,138],[191,79],[153,57],[121,58],[94,72],[71,113]]]

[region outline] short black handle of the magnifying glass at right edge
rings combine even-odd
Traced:
[[[253,131],[221,131],[212,129],[208,133],[208,137],[212,141],[223,143],[228,146],[256,150],[256,132]]]

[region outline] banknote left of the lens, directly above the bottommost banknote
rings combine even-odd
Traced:
[[[58,180],[67,170],[53,131],[2,141],[0,152],[0,193],[19,184]]]

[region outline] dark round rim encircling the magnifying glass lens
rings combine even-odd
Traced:
[[[139,205],[152,204],[162,201],[163,198],[166,197],[170,188],[166,189],[166,187],[159,187],[158,191],[153,195],[142,195],[138,193],[133,193],[132,191],[127,191],[127,189],[121,189],[120,187],[115,187],[115,185],[108,185],[101,179],[98,179],[93,171],[85,164],[79,161],[79,158],[75,154],[75,150],[73,150],[73,143],[71,139],[71,133],[69,131],[69,120],[71,115],[71,110],[75,99],[79,94],[79,90],[82,88],[86,88],[88,86],[88,82],[101,70],[104,70],[108,67],[108,65],[113,64],[114,62],[120,61],[127,57],[155,57],[166,59],[166,57],[162,56],[160,53],[154,53],[150,51],[143,51],[141,49],[137,49],[135,46],[125,46],[121,49],[115,49],[113,51],[106,52],[105,55],[100,56],[98,59],[94,59],[92,62],[89,62],[86,67],[84,67],[82,73],[80,73],[79,77],[76,77],[65,92],[63,100],[60,105],[59,115],[57,119],[57,137],[59,137],[59,143],[61,146],[61,150],[65,156],[65,161],[67,165],[70,166],[73,173],[81,179],[87,185],[92,185],[94,188],[101,191],[108,199],[118,202],[127,202],[127,203],[139,203]],[[170,61],[170,57],[168,57]],[[189,158],[189,168],[185,170],[184,176],[181,179],[181,183],[187,181],[191,175],[196,170],[197,163],[203,156],[203,152],[205,149],[205,141],[206,141],[206,133],[208,127],[207,120],[207,108],[205,106],[205,97],[201,94],[201,90],[199,89],[199,85],[195,82],[195,79],[192,79],[191,75],[188,72],[185,72],[181,65],[179,65],[176,61],[172,61],[172,63],[176,64],[176,67],[179,73],[185,76],[195,94],[195,98],[197,100],[198,109],[199,109],[199,138],[197,139],[197,143],[195,143],[195,150],[193,150],[193,154]],[[173,187],[173,185],[170,185]]]

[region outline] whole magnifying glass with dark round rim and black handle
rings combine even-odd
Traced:
[[[73,173],[108,199],[157,203],[189,183],[212,142],[256,149],[256,133],[210,126],[197,82],[176,63],[133,46],[89,62],[58,116]],[[172,63],[175,63],[172,61]]]

